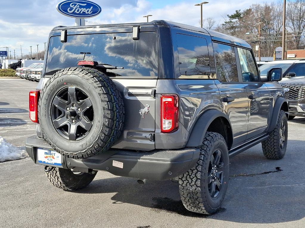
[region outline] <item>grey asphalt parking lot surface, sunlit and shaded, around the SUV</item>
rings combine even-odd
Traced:
[[[0,79],[0,136],[23,147],[35,134],[28,92],[37,83]],[[60,190],[30,158],[0,163],[0,227],[305,227],[305,118],[289,121],[286,156],[257,145],[230,160],[225,201],[214,215],[188,212],[178,184],[99,172],[81,191]],[[280,167],[277,168],[276,167]]]

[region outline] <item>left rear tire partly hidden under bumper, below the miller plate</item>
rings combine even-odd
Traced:
[[[55,167],[51,171],[46,172],[46,175],[55,187],[76,191],[87,187],[95,178],[96,173],[97,172],[95,172],[95,174],[74,174],[70,169]]]

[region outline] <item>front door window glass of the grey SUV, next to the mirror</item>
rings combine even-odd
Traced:
[[[237,48],[240,66],[242,68],[242,81],[243,82],[257,82],[258,72],[253,59],[252,53],[243,48]]]

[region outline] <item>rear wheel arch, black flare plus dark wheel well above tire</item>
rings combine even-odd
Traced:
[[[204,112],[190,133],[187,147],[198,147],[202,144],[204,135],[207,131],[216,132],[224,137],[228,150],[233,144],[232,126],[228,116],[216,109],[209,109]]]

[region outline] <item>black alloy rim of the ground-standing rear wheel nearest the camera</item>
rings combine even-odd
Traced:
[[[224,161],[220,150],[215,150],[211,156],[208,169],[208,189],[212,198],[221,191],[224,178]]]

